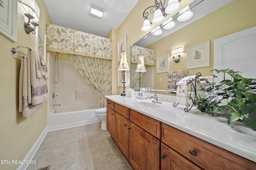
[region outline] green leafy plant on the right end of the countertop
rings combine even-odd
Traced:
[[[214,83],[214,87],[207,86],[204,96],[197,95],[194,105],[215,117],[218,113],[226,114],[228,125],[242,121],[256,131],[256,79],[245,78],[229,68],[211,71],[223,72],[224,80],[217,85]],[[225,74],[229,74],[231,80],[225,80]]]

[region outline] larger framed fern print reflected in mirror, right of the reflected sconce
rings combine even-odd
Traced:
[[[210,66],[210,41],[187,48],[187,68]]]

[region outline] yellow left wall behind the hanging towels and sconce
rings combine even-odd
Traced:
[[[40,8],[40,21],[45,31],[46,22],[51,23],[43,0],[36,0]],[[11,47],[29,46],[35,48],[35,35],[24,31],[24,9],[18,3],[17,43],[0,34],[0,160],[23,160],[42,131],[47,126],[47,102],[34,115],[24,118],[18,112],[18,84],[20,57],[10,52]],[[19,48],[19,54],[26,55],[26,49]],[[17,164],[0,164],[1,170],[16,170]]]

